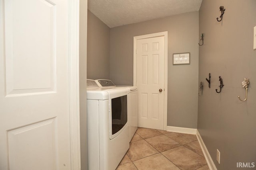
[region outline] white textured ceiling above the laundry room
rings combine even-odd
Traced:
[[[198,11],[202,0],[88,0],[88,10],[108,27]]]

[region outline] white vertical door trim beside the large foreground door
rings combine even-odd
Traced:
[[[68,72],[71,170],[81,169],[79,116],[79,2],[79,0],[68,0]]]

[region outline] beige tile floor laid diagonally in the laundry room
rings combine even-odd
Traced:
[[[209,170],[196,135],[138,127],[116,170]]]

